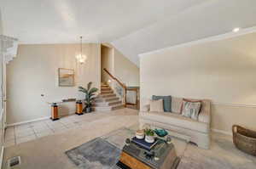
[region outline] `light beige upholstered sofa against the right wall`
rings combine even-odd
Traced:
[[[182,103],[182,98],[172,97],[172,113],[152,112],[149,110],[149,104],[144,105],[139,113],[140,127],[143,128],[144,125],[152,125],[154,127],[165,128],[171,132],[189,136],[189,141],[197,144],[198,147],[209,149],[211,122],[210,100],[202,99],[198,121],[180,114]]]

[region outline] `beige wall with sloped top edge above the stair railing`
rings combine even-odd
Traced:
[[[126,86],[140,85],[140,71],[137,65],[125,58],[114,48],[114,75],[126,84]]]

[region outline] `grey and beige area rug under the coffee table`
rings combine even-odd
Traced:
[[[115,164],[119,161],[125,139],[133,137],[134,134],[135,130],[132,127],[119,128],[79,147],[67,150],[66,155],[79,169],[119,169]],[[174,140],[174,144],[178,149],[177,155],[183,154],[186,144],[177,139]]]

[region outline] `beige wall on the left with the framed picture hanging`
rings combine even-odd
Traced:
[[[93,82],[100,87],[101,46],[84,44],[83,48],[88,59],[80,65],[75,59],[78,44],[19,46],[18,56],[7,66],[8,124],[49,116],[46,101],[82,97],[79,85]],[[58,87],[58,68],[75,70],[75,87]],[[74,112],[74,103],[61,105],[61,115]]]

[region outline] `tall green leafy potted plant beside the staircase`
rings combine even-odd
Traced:
[[[89,82],[87,84],[87,88],[84,87],[79,87],[79,92],[82,92],[85,94],[85,99],[84,99],[84,112],[90,113],[91,112],[91,106],[96,98],[96,92],[98,91],[98,88],[96,87],[91,87],[92,82]]]

